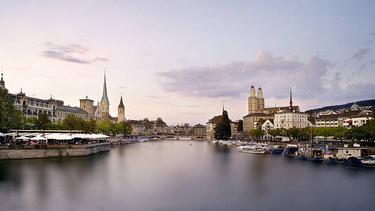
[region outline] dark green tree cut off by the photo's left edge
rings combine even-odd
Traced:
[[[0,88],[0,132],[7,132],[11,129],[13,115],[13,100],[5,90]]]

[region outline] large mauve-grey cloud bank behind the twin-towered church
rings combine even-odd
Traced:
[[[266,98],[286,98],[291,86],[293,96],[299,99],[330,99],[336,92],[346,91],[338,85],[340,73],[333,72],[334,77],[329,79],[328,70],[334,64],[320,56],[309,56],[301,62],[296,56],[280,57],[259,50],[251,61],[192,66],[155,74],[160,77],[164,91],[186,96],[238,98],[247,96],[249,85],[254,84],[262,87]],[[375,88],[372,83],[358,86]],[[367,89],[366,94],[370,95],[372,90]]]

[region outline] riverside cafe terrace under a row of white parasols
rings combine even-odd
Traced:
[[[2,134],[2,133],[1,133]],[[109,137],[104,134],[66,133],[66,132],[15,132],[6,133],[11,144],[86,144],[92,142],[105,142]],[[16,137],[18,136],[18,137]],[[2,143],[5,143],[3,141]]]

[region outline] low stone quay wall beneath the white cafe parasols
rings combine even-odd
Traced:
[[[9,145],[0,146],[0,159],[86,156],[108,151],[108,142],[92,144]]]

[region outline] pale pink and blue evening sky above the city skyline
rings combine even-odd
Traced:
[[[79,106],[122,93],[127,119],[204,124],[265,106],[375,99],[375,1],[0,0],[0,65],[11,93]]]

